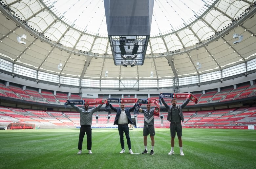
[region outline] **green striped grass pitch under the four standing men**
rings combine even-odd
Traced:
[[[144,150],[142,128],[130,130],[132,150],[121,151],[117,129],[92,130],[93,154],[88,154],[86,136],[77,155],[79,129],[0,130],[0,168],[255,168],[256,130],[183,128],[183,152],[178,138],[174,155],[168,155],[169,128],[157,128],[154,155]],[[151,140],[148,137],[148,150]]]

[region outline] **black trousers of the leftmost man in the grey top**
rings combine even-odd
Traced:
[[[81,125],[80,133],[79,133],[79,140],[78,140],[78,150],[82,150],[83,146],[83,139],[86,132],[87,137],[87,150],[92,149],[92,128],[91,125]]]

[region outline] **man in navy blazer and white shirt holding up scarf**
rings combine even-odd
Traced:
[[[124,153],[124,140],[123,140],[123,133],[125,134],[126,140],[127,140],[127,145],[129,148],[129,153],[134,154],[132,151],[132,146],[131,146],[131,139],[130,139],[130,134],[129,134],[129,126],[128,124],[132,124],[132,117],[131,117],[131,111],[133,111],[136,107],[136,104],[130,109],[125,108],[125,104],[121,103],[120,107],[116,109],[113,107],[111,104],[109,104],[110,108],[117,112],[116,118],[114,125],[118,125],[118,132],[119,132],[119,137],[120,137],[120,143],[121,143],[121,154]]]

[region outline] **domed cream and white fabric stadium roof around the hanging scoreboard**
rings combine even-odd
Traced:
[[[0,11],[0,58],[55,75],[171,79],[256,58],[253,0],[154,1],[144,65],[134,67],[114,64],[103,1],[4,0]]]

